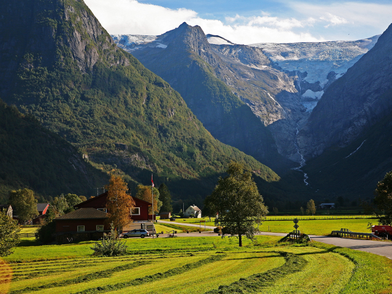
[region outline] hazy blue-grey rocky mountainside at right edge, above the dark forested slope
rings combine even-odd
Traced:
[[[361,59],[333,82],[300,131],[306,157],[345,147],[392,109],[392,26]]]

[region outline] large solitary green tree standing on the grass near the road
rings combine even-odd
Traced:
[[[268,208],[251,172],[245,171],[242,164],[232,161],[226,172],[228,176],[218,179],[218,185],[206,197],[205,205],[219,213],[216,224],[219,222],[231,236],[238,235],[239,246],[242,246],[242,236],[254,238],[254,224],[268,214]]]

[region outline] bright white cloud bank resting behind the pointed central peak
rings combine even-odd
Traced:
[[[227,24],[223,24],[219,20],[202,19],[193,10],[173,10],[136,0],[85,2],[111,34],[159,35],[187,22],[189,25],[200,25],[206,34],[221,35],[238,44],[324,41],[309,32],[296,33],[292,30],[294,27],[312,25],[316,20],[311,17],[300,21],[270,17],[268,13],[262,12],[262,16],[249,18],[236,15],[234,18],[226,18]]]

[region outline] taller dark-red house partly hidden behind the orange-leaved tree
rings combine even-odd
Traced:
[[[106,198],[107,198],[107,192],[96,196],[92,197],[84,202],[81,202],[79,204],[74,205],[73,207],[75,209],[80,209],[80,208],[95,208],[98,209],[102,212],[108,212],[106,211]],[[133,221],[149,221],[152,220],[152,215],[148,214],[148,207],[151,207],[152,204],[144,201],[142,199],[132,197],[132,199],[135,201],[135,208],[130,211],[131,213],[131,218]]]

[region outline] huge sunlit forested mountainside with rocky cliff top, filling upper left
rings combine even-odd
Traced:
[[[216,180],[231,159],[279,179],[214,139],[167,82],[113,43],[83,1],[2,1],[0,10],[1,97],[96,165],[143,183],[154,172],[173,191],[178,181],[198,181],[201,196],[215,184],[202,178]]]

